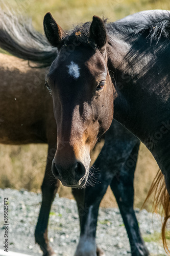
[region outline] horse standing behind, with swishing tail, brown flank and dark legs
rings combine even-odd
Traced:
[[[59,186],[59,180],[51,175],[52,160],[56,152],[57,128],[52,98],[43,84],[48,66],[57,56],[57,49],[50,47],[45,38],[32,28],[29,21],[25,23],[25,20],[3,11],[0,14],[0,47],[17,57],[34,61],[29,66],[26,61],[14,56],[0,54],[0,142],[48,143],[45,176],[41,187],[42,205],[35,239],[44,256],[52,255],[54,252],[47,239],[47,223]],[[32,68],[36,63],[41,68]],[[59,142],[58,148],[62,151],[67,141]],[[95,178],[98,178],[98,182],[94,187],[72,190],[77,200],[81,221],[81,239],[76,255],[96,255],[96,251],[98,255],[104,255],[102,250],[95,246],[95,230],[99,204],[109,184],[128,232],[132,255],[149,255],[133,210],[133,178],[138,148],[139,140],[136,137],[117,122],[111,124],[101,155],[95,162],[95,167],[101,172],[98,172],[98,177],[93,169],[90,173],[89,183],[94,185]],[[84,201],[86,207],[82,206]],[[87,228],[89,224],[90,229]],[[85,247],[87,244],[91,244],[91,247]]]

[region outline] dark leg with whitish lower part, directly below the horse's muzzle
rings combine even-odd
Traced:
[[[72,189],[76,198],[81,224],[80,240],[75,256],[104,256],[105,253],[95,244],[96,224],[100,202],[110,183],[110,177],[100,172],[99,181],[94,187],[85,189]],[[107,179],[108,178],[108,179]]]

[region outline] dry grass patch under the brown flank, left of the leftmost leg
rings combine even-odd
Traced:
[[[47,145],[0,145],[0,187],[40,189],[46,164]]]

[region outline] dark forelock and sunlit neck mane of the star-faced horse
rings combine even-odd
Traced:
[[[155,41],[158,44],[161,37],[170,37],[170,13],[168,11],[143,11],[137,14],[128,16],[117,20],[114,23],[107,23],[107,19],[103,18],[106,25],[108,36],[119,35],[120,37],[127,37],[137,39],[139,35],[145,34],[147,41]],[[63,48],[72,45],[73,42],[84,44],[93,49],[97,46],[90,38],[89,29],[91,22],[77,25],[70,30],[62,40]]]

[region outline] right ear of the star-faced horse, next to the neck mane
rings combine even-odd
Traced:
[[[93,16],[90,25],[90,37],[94,39],[95,44],[102,49],[106,45],[107,34],[103,20],[98,16]]]

